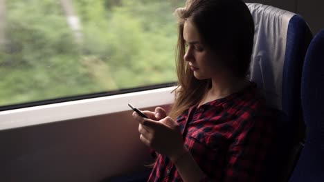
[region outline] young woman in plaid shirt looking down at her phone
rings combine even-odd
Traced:
[[[133,113],[157,153],[148,181],[260,181],[273,121],[246,79],[254,23],[241,0],[192,0],[179,17],[179,85],[163,108]]]

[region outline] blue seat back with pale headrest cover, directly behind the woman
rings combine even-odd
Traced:
[[[258,3],[246,5],[255,23],[249,77],[258,84],[267,104],[280,111],[276,121],[278,140],[264,174],[264,181],[278,181],[286,175],[279,172],[287,168],[288,156],[303,123],[300,80],[312,32],[298,14]]]

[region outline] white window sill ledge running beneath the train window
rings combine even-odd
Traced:
[[[174,88],[160,88],[108,97],[6,110],[0,112],[0,130],[123,112],[130,110],[127,103],[132,103],[136,108],[166,105],[172,103],[174,99],[174,94],[171,94]]]

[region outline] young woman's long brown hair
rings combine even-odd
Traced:
[[[217,61],[222,61],[228,71],[239,78],[246,77],[249,70],[254,37],[253,18],[241,0],[188,0],[185,8],[178,8],[174,13],[178,17],[179,37],[176,49],[178,83],[169,114],[172,119],[198,104],[211,87],[211,80],[196,79],[183,59],[186,53],[184,23],[193,23],[202,42],[222,58]]]

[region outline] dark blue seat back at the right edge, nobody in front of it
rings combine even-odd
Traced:
[[[301,100],[307,136],[289,181],[324,181],[324,30],[314,37],[307,50]]]

